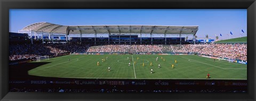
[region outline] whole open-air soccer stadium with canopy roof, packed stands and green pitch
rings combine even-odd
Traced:
[[[10,33],[10,75],[15,79],[246,80],[247,43],[199,40],[198,27],[30,24]]]

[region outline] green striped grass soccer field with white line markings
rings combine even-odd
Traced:
[[[102,62],[102,59],[105,61]],[[175,60],[178,63],[174,63]],[[28,74],[59,78],[205,79],[209,73],[211,79],[247,79],[247,65],[217,59],[214,62],[196,55],[68,55],[41,62],[47,63],[29,70]],[[144,67],[142,63],[145,63]],[[158,68],[158,65],[161,67]]]

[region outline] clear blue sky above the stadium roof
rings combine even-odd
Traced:
[[[198,25],[198,38],[247,36],[247,10],[10,10],[10,32],[36,22],[60,25]],[[222,36],[220,36],[220,33]]]

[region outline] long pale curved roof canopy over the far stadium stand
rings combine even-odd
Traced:
[[[61,33],[61,34],[191,34],[195,35],[198,26],[174,25],[58,25],[48,22],[38,22],[24,27],[19,32]]]

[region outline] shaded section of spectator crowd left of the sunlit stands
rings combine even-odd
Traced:
[[[34,59],[39,56],[58,56],[67,52],[86,52],[89,44],[12,44],[9,60]]]

